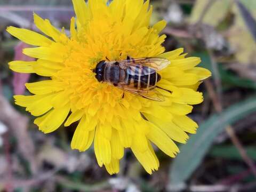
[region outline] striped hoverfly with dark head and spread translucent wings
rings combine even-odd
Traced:
[[[107,82],[143,98],[164,101],[163,95],[155,89],[156,83],[161,80],[157,71],[169,64],[170,61],[164,58],[127,57],[121,61],[100,61],[93,72],[99,82]]]

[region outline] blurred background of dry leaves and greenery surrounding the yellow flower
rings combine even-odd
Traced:
[[[126,150],[120,173],[110,176],[93,148],[70,149],[76,125],[45,135],[13,103],[14,94],[29,94],[26,82],[40,77],[8,68],[9,61],[33,59],[6,27],[35,29],[34,11],[69,29],[71,1],[0,0],[0,191],[256,191],[256,1],[151,4],[151,22],[168,22],[166,51],[185,47],[189,56],[202,58],[212,77],[200,87],[204,102],[190,114],[198,132],[179,146],[177,158],[156,149],[160,168],[148,175]]]

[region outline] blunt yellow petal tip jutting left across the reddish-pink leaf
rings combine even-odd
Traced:
[[[11,61],[8,64],[10,69],[18,73],[35,73],[36,61]]]

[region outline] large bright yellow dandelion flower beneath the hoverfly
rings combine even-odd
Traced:
[[[143,0],[73,0],[77,19],[71,18],[70,36],[47,19],[34,14],[36,27],[46,36],[27,29],[8,27],[21,41],[37,47],[23,53],[36,61],[12,61],[19,73],[36,73],[46,81],[27,83],[33,95],[15,95],[15,103],[36,116],[35,124],[44,133],[79,121],[71,148],[85,151],[94,143],[100,166],[118,173],[125,148],[131,148],[148,173],[159,162],[151,143],[170,157],[179,149],[174,141],[186,143],[187,133],[197,124],[187,114],[203,101],[199,83],[211,75],[196,67],[200,58],[185,58],[183,49],[164,53],[165,35],[159,32],[166,22],[149,27],[152,6]],[[161,80],[155,88],[164,101],[154,101],[98,82],[92,69],[108,58],[165,58],[170,65],[158,71]],[[124,94],[123,94],[124,93]],[[187,132],[187,133],[186,133]]]

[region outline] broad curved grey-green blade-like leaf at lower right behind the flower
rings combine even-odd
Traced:
[[[199,126],[197,134],[191,135],[186,145],[180,147],[181,153],[174,159],[170,169],[170,184],[185,182],[202,162],[214,138],[229,124],[235,123],[256,111],[256,96],[236,103],[221,114],[211,115]]]

